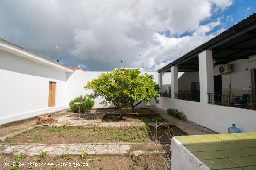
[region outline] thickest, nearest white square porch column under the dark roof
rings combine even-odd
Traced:
[[[207,104],[208,94],[214,93],[212,51],[203,51],[198,56],[200,102]]]

